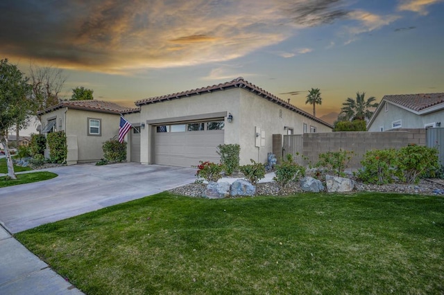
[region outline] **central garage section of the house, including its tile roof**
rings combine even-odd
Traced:
[[[273,134],[332,132],[333,126],[243,78],[180,93],[138,100],[125,117],[139,124],[130,147],[141,163],[197,166],[219,163],[220,144],[241,147],[241,165],[266,163]],[[137,132],[136,132],[137,133]],[[79,149],[80,150],[80,149]],[[136,159],[136,157],[134,157]],[[132,159],[133,160],[133,159]]]

